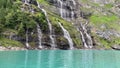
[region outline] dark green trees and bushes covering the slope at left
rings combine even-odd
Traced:
[[[9,40],[10,34],[15,34],[25,38],[25,31],[36,30],[36,23],[42,25],[45,31],[47,23],[44,14],[37,10],[35,14],[29,12],[29,6],[22,4],[19,0],[1,0],[0,1],[0,45],[2,46],[23,46],[20,41]],[[36,6],[31,5],[36,9]],[[21,8],[24,11],[21,11]]]

